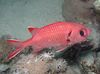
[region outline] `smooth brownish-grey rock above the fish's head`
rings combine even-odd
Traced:
[[[66,21],[91,20],[95,0],[64,0],[62,14]]]

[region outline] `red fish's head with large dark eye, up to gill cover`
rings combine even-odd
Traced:
[[[70,43],[75,44],[78,42],[86,41],[87,37],[91,34],[91,29],[83,24],[76,23],[72,25],[71,35],[69,36]]]

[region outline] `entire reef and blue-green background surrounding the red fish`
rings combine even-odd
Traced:
[[[9,62],[0,62],[0,74],[100,74],[100,0],[0,0],[0,61],[15,47],[8,38],[26,40],[27,27],[42,27],[57,21],[75,21],[91,28],[89,42],[72,45],[59,58],[54,49],[35,56],[26,47]],[[79,50],[89,50],[80,53]],[[38,60],[36,62],[36,60]]]

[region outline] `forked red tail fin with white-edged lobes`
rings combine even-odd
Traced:
[[[8,57],[6,58],[6,61],[14,58],[17,54],[19,54],[25,47],[29,46],[32,43],[31,39],[28,39],[26,41],[19,41],[19,40],[8,40],[9,43],[14,44],[16,46],[16,49],[11,52]]]

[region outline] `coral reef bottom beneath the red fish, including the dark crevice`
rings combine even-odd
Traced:
[[[9,64],[1,64],[1,74],[96,74],[100,72],[100,53],[94,57],[91,41],[78,43],[66,48],[62,53],[52,49],[44,49],[38,55],[28,53],[25,49]],[[88,54],[87,54],[87,49]],[[81,51],[80,51],[81,50]],[[55,53],[56,56],[55,57]],[[81,54],[80,54],[81,53]],[[77,55],[78,54],[78,55]],[[60,56],[59,56],[60,55]],[[96,58],[96,59],[95,59]],[[73,62],[71,62],[73,61]]]

